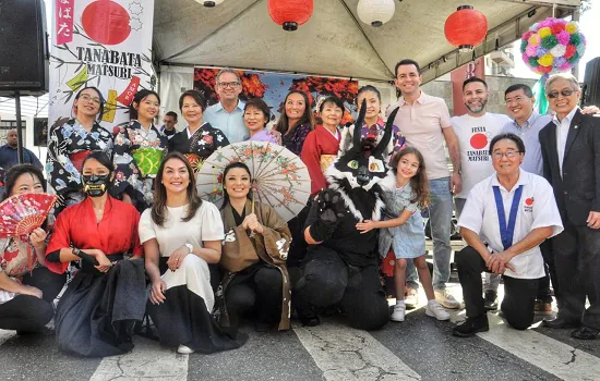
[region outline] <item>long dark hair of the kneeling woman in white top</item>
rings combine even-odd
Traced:
[[[185,159],[183,153],[178,151],[169,152],[165,158],[163,159],[163,162],[160,162],[160,167],[158,168],[158,173],[156,174],[156,179],[154,181],[154,204],[152,206],[151,210],[151,217],[154,223],[156,223],[158,226],[164,228],[166,218],[166,211],[167,211],[167,188],[165,185],[163,185],[163,172],[165,172],[165,164],[167,161],[171,159],[180,160],[185,164],[185,168],[188,169],[188,173],[190,175],[190,183],[188,184],[188,216],[185,216],[182,221],[188,222],[192,220],[200,207],[202,206],[202,198],[197,195],[196,190],[196,177],[194,175],[194,170],[192,169],[192,165]]]

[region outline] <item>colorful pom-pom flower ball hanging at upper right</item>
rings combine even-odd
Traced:
[[[523,34],[523,61],[540,75],[564,72],[575,66],[586,51],[586,37],[575,22],[549,17]]]

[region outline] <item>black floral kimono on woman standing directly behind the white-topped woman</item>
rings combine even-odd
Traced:
[[[213,127],[211,123],[204,123],[191,136],[188,127],[178,132],[169,140],[169,151],[183,153],[192,164],[194,173],[197,173],[204,160],[217,148],[228,145],[229,140],[220,130]]]

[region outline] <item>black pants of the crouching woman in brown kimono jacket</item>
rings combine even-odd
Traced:
[[[239,275],[244,276],[243,273]],[[283,282],[279,269],[267,266],[261,266],[252,274],[244,276],[241,282],[233,280],[225,293],[231,328],[237,330],[240,316],[252,309],[256,310],[257,322],[279,321],[284,297]]]

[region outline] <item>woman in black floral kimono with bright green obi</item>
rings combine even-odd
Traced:
[[[115,136],[112,194],[122,195],[140,212],[153,202],[154,177],[168,145],[167,136],[153,123],[159,107],[156,91],[137,91],[129,108],[131,122]]]

